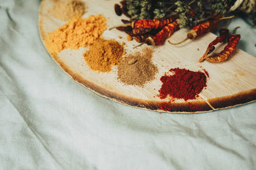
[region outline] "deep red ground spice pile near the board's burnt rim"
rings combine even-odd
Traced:
[[[167,96],[185,101],[195,99],[207,86],[205,73],[180,69],[179,67],[170,69],[170,73],[165,73],[160,80],[163,83],[159,90],[161,99]]]

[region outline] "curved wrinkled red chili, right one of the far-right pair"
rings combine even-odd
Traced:
[[[236,27],[236,29],[237,28],[238,27]],[[205,60],[209,62],[222,62],[227,60],[228,57],[230,57],[230,55],[232,55],[236,50],[236,46],[241,38],[240,34],[234,34],[236,29],[234,29],[233,34],[228,37],[228,44],[225,46],[224,50],[222,50],[218,55],[214,55],[212,57],[207,56]]]

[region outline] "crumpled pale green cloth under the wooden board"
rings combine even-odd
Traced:
[[[255,102],[180,115],[97,96],[45,50],[39,6],[0,0],[0,169],[255,169]],[[256,56],[256,29],[237,25]]]

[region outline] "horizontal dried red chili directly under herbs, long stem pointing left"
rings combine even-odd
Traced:
[[[164,27],[164,25],[174,22],[177,18],[179,18],[179,15],[172,15],[171,17],[166,19],[153,19],[153,20],[141,19],[141,20],[134,20],[131,23],[127,23],[119,26],[131,26],[132,28],[144,27],[144,28],[151,28],[151,29],[159,29]],[[115,27],[111,27],[109,30],[114,28]]]

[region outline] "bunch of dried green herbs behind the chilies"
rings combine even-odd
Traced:
[[[180,27],[193,27],[212,15],[226,15],[234,0],[124,0],[125,10],[132,19],[167,18],[179,14]],[[256,25],[256,9],[249,13]]]

